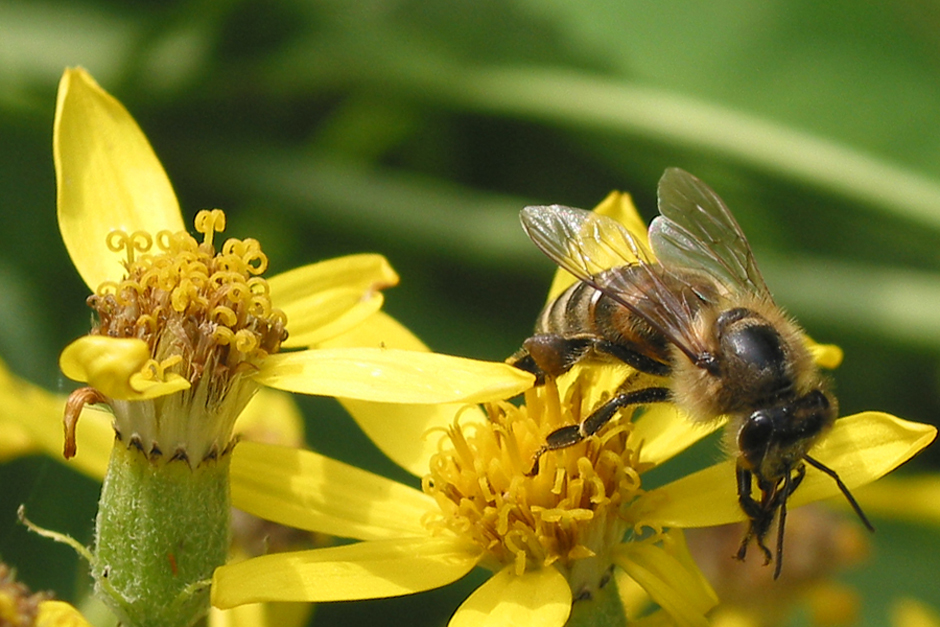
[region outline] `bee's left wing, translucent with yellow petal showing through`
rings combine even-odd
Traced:
[[[619,222],[562,205],[526,207],[526,234],[555,263],[645,320],[693,361],[707,352],[694,334],[696,312],[708,296],[655,262]],[[629,266],[630,272],[606,272]]]

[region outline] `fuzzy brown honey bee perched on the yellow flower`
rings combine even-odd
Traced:
[[[735,557],[743,560],[755,540],[765,563],[776,556],[777,578],[787,499],[806,464],[832,477],[874,531],[838,474],[809,455],[835,422],[838,404],[801,328],[774,303],[724,202],[678,168],[666,170],[658,191],[649,247],[588,211],[522,210],[527,235],[579,282],[545,307],[535,335],[509,362],[538,382],[582,360],[622,362],[644,375],[628,377],[581,424],[550,433],[530,474],[538,473],[543,454],[581,442],[628,407],[672,402],[695,421],[726,416],[738,502],[749,520]],[[752,496],[755,481],[759,499]],[[772,553],[765,539],[775,518]]]

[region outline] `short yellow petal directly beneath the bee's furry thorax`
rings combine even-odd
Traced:
[[[639,447],[640,463],[659,465],[724,425],[723,420],[697,423],[671,403],[652,405],[634,421],[631,447]]]

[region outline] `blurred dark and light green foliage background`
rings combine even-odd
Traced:
[[[459,355],[505,358],[542,305],[554,269],[522,206],[622,189],[649,219],[680,166],[728,202],[778,301],[845,349],[844,414],[937,422],[940,3],[2,0],[0,357],[63,392],[58,351],[90,319],[55,222],[69,65],[135,116],[187,221],[225,209],[275,272],[384,253],[402,276],[386,309]],[[334,401],[301,403],[312,446],[415,484]],[[0,556],[80,597],[83,565],[15,510],[87,543],[97,492],[48,458],[0,466]],[[938,529],[875,523],[873,561],[846,575],[865,624],[899,595],[940,606]],[[324,606],[314,624],[441,625],[474,585]]]

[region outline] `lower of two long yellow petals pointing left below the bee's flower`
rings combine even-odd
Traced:
[[[212,604],[352,601],[439,588],[470,572],[475,545],[454,537],[401,538],[277,553],[216,569]]]

